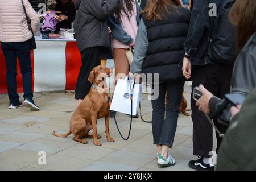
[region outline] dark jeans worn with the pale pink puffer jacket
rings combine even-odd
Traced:
[[[30,40],[26,42],[2,42],[2,51],[6,61],[6,80],[10,104],[19,103],[17,94],[17,57],[22,73],[24,98],[32,99],[32,68],[30,60]]]

